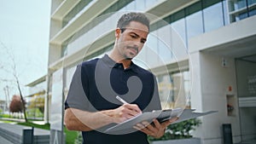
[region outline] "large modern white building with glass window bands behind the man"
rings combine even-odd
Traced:
[[[255,0],[52,0],[48,101],[59,106],[76,66],[113,48],[116,21],[128,11],[151,20],[135,62],[157,76],[162,106],[218,111],[193,133],[202,144],[223,143],[223,124],[234,143],[255,141]]]

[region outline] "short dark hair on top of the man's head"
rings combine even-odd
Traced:
[[[143,25],[148,27],[149,31],[149,20],[147,16],[143,13],[127,13],[123,14],[118,21],[117,27],[119,27],[121,30],[125,29],[125,26],[129,25],[131,21],[137,21],[142,23]]]

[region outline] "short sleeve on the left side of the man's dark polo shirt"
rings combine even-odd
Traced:
[[[71,107],[84,111],[88,110],[89,101],[85,94],[86,92],[84,91],[84,87],[86,87],[86,85],[84,85],[83,87],[82,84],[82,75],[83,78],[85,76],[85,78],[83,79],[83,81],[85,81],[84,84],[88,84],[86,83],[86,81],[88,81],[88,79],[86,78],[86,73],[82,73],[82,67],[81,65],[79,65],[77,66],[77,69],[73,74],[72,82],[70,84],[67,94],[67,99],[65,101],[65,109]]]

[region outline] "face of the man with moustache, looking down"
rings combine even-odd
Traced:
[[[132,59],[143,49],[148,37],[148,27],[140,22],[131,21],[125,26],[124,32],[116,30],[116,37],[120,56]]]

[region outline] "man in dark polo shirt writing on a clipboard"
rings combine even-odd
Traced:
[[[84,143],[148,144],[147,135],[159,138],[176,120],[160,124],[154,119],[134,125],[131,133],[104,133],[111,125],[141,112],[161,109],[154,75],[132,62],[143,49],[148,32],[149,21],[144,14],[124,14],[118,21],[110,54],[77,67],[65,102],[65,124],[68,130],[82,131]],[[116,95],[128,103],[122,104]]]

